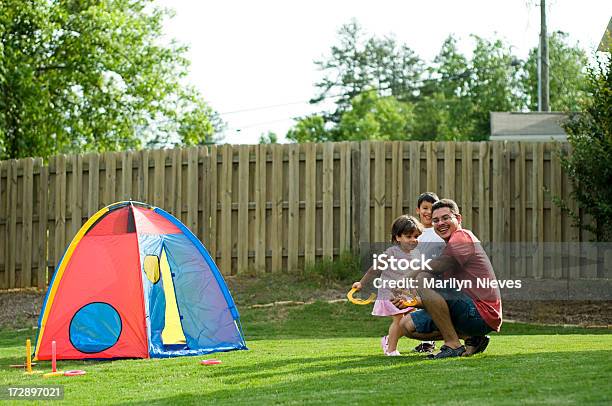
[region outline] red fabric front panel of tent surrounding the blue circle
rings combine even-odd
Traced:
[[[126,210],[127,213],[127,210]],[[107,218],[115,214],[114,217]],[[119,224],[120,211],[107,215],[98,226]],[[109,224],[103,224],[109,221]],[[148,343],[136,233],[97,236],[87,234],[76,247],[59,283],[45,323],[38,359],[51,358],[51,342],[58,359],[148,358]],[[104,302],[121,316],[122,330],[115,345],[95,354],[72,346],[70,321],[83,306]],[[49,305],[49,303],[47,304]]]

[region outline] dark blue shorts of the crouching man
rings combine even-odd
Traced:
[[[478,313],[474,301],[465,293],[457,292],[454,289],[436,289],[436,291],[444,296],[453,326],[460,335],[483,336],[493,331]],[[427,334],[439,331],[425,309],[414,311],[409,316],[417,333]]]

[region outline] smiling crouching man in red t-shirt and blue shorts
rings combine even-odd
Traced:
[[[490,339],[486,334],[499,331],[502,322],[499,289],[490,284],[496,280],[491,261],[476,236],[461,227],[453,200],[434,203],[432,223],[446,246],[430,262],[430,269],[410,275],[418,281],[423,309],[403,318],[404,334],[417,340],[444,340],[440,352],[430,356],[434,359],[483,352]],[[393,303],[405,307],[401,298]],[[459,338],[465,339],[465,346]]]

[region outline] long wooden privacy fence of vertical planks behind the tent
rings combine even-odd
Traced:
[[[0,288],[44,288],[87,218],[128,199],[183,221],[224,274],[301,269],[360,243],[387,241],[393,219],[414,213],[424,191],[455,199],[464,225],[484,242],[588,240],[551,203],[551,194],[571,191],[555,148],[343,142],[58,155],[48,165],[3,161]]]

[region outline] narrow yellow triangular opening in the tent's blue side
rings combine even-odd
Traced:
[[[165,323],[162,330],[162,343],[164,345],[186,344],[183,326],[181,325],[181,316],[176,303],[176,292],[174,290],[174,282],[172,280],[172,272],[170,264],[168,264],[168,256],[166,248],[162,248],[161,258],[159,261],[162,284],[164,287],[164,297],[166,299],[166,311],[164,315]]]

